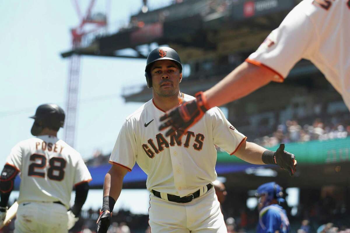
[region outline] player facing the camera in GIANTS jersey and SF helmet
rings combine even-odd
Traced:
[[[175,50],[159,47],[151,51],[145,71],[153,99],[128,116],[119,132],[110,157],[112,167],[105,176],[96,232],[107,231],[123,177],[135,162],[147,174],[151,232],[227,232],[212,188],[217,177],[214,144],[250,163],[277,163],[290,174],[295,171],[295,156],[284,151],[284,145],[274,152],[247,142],[218,108],[207,111],[184,137],[176,133],[166,137],[158,129],[159,117],[179,105],[179,98],[189,101],[194,97],[180,92],[182,65]]]

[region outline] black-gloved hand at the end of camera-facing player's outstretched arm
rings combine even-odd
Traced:
[[[280,147],[275,152],[275,163],[280,166],[282,169],[286,169],[289,172],[289,175],[292,176],[296,172],[296,159],[295,155],[291,154],[284,150],[285,145],[280,144]]]

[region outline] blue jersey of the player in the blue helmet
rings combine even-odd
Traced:
[[[257,233],[288,233],[289,220],[286,211],[280,205],[268,205],[259,212]]]

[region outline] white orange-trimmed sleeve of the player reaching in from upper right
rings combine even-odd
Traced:
[[[270,68],[282,82],[293,66],[316,47],[316,29],[301,6],[295,7],[273,30],[247,62]]]

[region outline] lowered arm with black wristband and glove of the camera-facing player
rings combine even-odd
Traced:
[[[119,198],[123,179],[128,170],[119,165],[112,165],[107,172],[103,184],[103,206],[99,218],[97,219],[96,232],[106,233],[110,226],[114,204]]]

